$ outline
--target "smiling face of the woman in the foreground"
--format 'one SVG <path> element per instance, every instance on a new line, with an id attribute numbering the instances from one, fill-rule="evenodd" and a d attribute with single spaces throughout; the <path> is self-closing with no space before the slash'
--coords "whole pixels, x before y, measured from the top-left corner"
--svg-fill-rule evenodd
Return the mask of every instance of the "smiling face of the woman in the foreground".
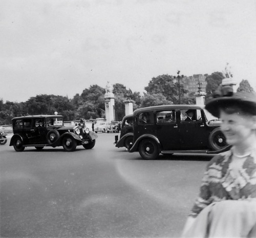
<path id="1" fill-rule="evenodd" d="M 250 145 L 254 143 L 252 136 L 255 135 L 255 122 L 253 116 L 243 115 L 241 113 L 227 114 L 224 111 L 220 113 L 221 129 L 224 133 L 227 143 L 230 145 Z"/>

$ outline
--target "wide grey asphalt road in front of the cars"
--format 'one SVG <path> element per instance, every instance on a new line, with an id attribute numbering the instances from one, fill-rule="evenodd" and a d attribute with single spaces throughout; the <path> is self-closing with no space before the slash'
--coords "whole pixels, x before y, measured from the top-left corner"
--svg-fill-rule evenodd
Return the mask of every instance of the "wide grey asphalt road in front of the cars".
<path id="1" fill-rule="evenodd" d="M 1 237 L 178 237 L 210 157 L 0 146 Z"/>

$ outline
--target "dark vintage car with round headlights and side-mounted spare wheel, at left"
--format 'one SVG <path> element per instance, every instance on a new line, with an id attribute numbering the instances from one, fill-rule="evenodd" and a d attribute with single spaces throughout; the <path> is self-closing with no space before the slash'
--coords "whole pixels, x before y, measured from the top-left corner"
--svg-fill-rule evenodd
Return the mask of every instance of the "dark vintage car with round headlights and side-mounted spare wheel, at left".
<path id="1" fill-rule="evenodd" d="M 45 146 L 63 146 L 67 152 L 75 150 L 77 145 L 91 149 L 97 138 L 82 123 L 77 126 L 64 126 L 63 117 L 60 115 L 14 117 L 12 127 L 14 135 L 10 146 L 17 152 L 22 152 L 28 146 L 34 146 L 37 150 Z"/>

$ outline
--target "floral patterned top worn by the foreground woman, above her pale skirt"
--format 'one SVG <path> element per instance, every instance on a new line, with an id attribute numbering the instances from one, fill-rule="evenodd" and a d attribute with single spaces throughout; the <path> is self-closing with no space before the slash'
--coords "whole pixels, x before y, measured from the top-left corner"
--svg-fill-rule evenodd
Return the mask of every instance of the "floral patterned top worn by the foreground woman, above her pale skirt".
<path id="1" fill-rule="evenodd" d="M 232 149 L 215 156 L 207 165 L 200 187 L 199 197 L 189 216 L 197 215 L 209 204 L 224 200 L 256 199 L 256 149 L 239 169 L 239 176 L 234 176 L 230 163 Z"/>

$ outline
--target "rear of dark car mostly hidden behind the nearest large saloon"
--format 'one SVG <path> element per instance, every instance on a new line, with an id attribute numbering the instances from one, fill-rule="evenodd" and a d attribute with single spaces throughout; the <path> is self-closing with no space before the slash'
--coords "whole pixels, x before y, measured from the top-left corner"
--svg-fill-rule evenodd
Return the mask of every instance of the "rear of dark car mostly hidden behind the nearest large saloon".
<path id="1" fill-rule="evenodd" d="M 133 115 L 124 116 L 121 122 L 120 139 L 115 136 L 116 147 L 126 147 L 129 149 L 133 143 Z"/>

